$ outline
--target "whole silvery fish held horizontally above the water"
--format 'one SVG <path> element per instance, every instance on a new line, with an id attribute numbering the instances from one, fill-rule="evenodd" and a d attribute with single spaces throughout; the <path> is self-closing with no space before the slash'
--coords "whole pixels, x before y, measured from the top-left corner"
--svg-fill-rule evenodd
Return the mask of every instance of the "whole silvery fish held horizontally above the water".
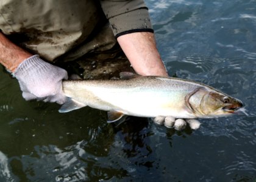
<path id="1" fill-rule="evenodd" d="M 127 115 L 215 118 L 243 107 L 239 99 L 206 84 L 168 76 L 121 72 L 120 79 L 66 80 L 62 86 L 68 99 L 60 113 L 89 106 L 107 111 L 110 123 Z"/>

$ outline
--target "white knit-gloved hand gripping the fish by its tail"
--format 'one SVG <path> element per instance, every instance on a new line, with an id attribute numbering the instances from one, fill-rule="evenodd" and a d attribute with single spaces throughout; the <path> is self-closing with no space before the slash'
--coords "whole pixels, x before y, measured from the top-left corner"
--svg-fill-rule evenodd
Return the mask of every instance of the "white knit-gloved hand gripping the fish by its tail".
<path id="1" fill-rule="evenodd" d="M 18 79 L 23 98 L 63 104 L 62 79 L 68 79 L 66 70 L 43 61 L 38 55 L 25 59 L 13 75 Z"/>

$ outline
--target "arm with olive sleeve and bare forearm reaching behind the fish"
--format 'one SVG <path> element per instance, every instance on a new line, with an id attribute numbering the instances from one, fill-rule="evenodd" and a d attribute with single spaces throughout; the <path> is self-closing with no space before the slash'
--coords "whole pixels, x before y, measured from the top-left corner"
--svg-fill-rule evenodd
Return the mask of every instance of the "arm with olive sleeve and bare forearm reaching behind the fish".
<path id="1" fill-rule="evenodd" d="M 140 75 L 168 76 L 143 0 L 105 0 L 101 5 L 133 69 Z"/>

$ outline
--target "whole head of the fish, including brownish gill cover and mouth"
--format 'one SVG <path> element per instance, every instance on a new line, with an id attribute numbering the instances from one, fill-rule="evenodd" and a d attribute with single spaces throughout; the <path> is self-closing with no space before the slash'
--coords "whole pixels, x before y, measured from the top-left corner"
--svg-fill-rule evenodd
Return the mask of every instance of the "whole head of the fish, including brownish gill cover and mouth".
<path id="1" fill-rule="evenodd" d="M 199 118 L 227 116 L 243 107 L 243 103 L 232 96 L 213 89 L 198 89 L 188 103 Z"/>

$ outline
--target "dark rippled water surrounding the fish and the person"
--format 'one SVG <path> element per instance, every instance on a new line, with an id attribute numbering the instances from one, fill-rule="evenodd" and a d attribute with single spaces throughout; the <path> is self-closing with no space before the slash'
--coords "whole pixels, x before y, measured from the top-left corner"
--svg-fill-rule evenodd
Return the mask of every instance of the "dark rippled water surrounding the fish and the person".
<path id="1" fill-rule="evenodd" d="M 148 0 L 169 75 L 221 89 L 248 116 L 176 132 L 145 118 L 119 127 L 85 107 L 26 102 L 0 73 L 0 181 L 256 181 L 256 1 Z"/>

